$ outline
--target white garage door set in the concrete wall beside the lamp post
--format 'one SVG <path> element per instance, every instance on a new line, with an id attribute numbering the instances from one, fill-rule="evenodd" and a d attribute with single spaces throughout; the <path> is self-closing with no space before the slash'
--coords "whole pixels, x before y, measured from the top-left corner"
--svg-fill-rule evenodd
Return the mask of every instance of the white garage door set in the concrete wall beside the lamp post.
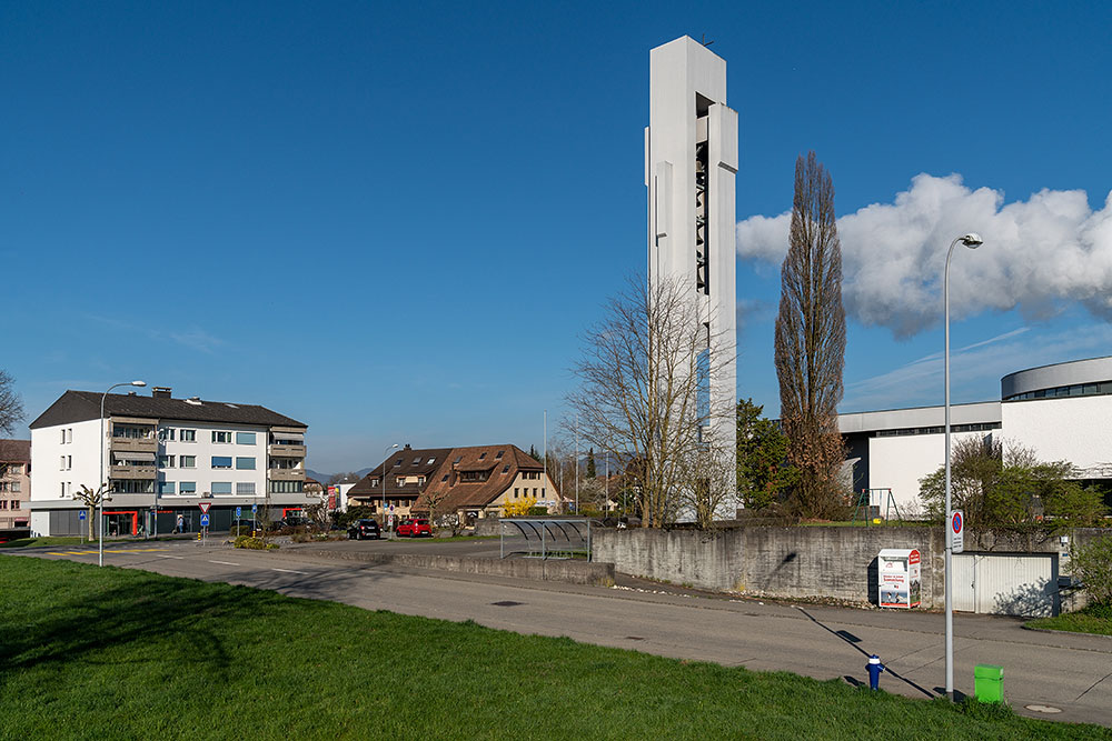
<path id="1" fill-rule="evenodd" d="M 954 609 L 1007 615 L 1058 614 L 1058 555 L 954 554 Z"/>

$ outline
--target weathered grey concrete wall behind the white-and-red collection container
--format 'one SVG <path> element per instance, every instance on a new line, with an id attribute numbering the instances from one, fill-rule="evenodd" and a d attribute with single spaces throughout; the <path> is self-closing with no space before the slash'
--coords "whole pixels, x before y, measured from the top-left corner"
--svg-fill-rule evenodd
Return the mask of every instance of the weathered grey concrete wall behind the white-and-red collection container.
<path id="1" fill-rule="evenodd" d="M 1108 530 L 1078 529 L 1086 542 Z M 716 591 L 795 598 L 835 598 L 876 603 L 876 554 L 883 548 L 916 548 L 923 557 L 923 607 L 944 603 L 943 528 L 737 528 L 696 530 L 598 529 L 592 558 L 616 571 Z M 1059 535 L 966 533 L 965 550 L 1061 553 Z M 1064 559 L 1063 559 L 1064 561 Z M 1063 565 L 1063 573 L 1069 570 Z"/>

